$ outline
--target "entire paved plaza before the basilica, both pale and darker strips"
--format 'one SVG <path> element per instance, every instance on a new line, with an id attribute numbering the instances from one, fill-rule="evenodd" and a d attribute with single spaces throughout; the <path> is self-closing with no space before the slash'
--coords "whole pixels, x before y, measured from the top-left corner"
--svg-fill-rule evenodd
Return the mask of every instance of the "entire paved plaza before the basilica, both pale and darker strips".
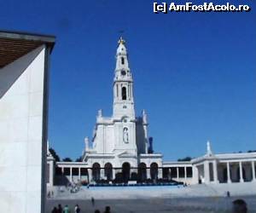
<path id="1" fill-rule="evenodd" d="M 248 213 L 256 213 L 255 184 L 232 183 L 197 185 L 190 187 L 83 187 L 78 193 L 54 192 L 47 200 L 47 212 L 54 206 L 68 204 L 73 212 L 79 204 L 83 213 L 103 212 L 109 205 L 112 213 L 118 212 L 231 212 L 232 201 L 244 199 Z M 56 189 L 56 188 L 55 188 Z M 230 198 L 226 196 L 230 192 Z M 95 206 L 91 204 L 95 199 Z"/>

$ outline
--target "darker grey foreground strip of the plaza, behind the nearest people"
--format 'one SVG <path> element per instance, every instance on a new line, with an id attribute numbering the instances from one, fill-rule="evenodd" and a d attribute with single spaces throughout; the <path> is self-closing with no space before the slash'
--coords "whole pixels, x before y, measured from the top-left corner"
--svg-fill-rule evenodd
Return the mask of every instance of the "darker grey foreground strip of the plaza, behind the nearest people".
<path id="1" fill-rule="evenodd" d="M 111 207 L 112 213 L 139 213 L 139 212 L 161 212 L 161 213 L 229 213 L 232 208 L 232 201 L 244 199 L 247 202 L 248 212 L 256 212 L 256 196 L 244 197 L 212 197 L 212 198 L 172 198 L 172 199 L 104 199 L 95 201 L 93 206 L 90 200 L 67 200 L 67 199 L 48 199 L 47 213 L 57 204 L 68 204 L 73 212 L 75 204 L 79 204 L 82 213 L 93 213 L 96 209 L 104 212 L 106 205 Z"/>

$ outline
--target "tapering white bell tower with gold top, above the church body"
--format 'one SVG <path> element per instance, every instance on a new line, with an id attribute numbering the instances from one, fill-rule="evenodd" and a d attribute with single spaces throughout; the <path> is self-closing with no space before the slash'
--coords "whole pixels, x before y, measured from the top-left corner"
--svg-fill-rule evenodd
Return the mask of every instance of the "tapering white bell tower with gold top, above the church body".
<path id="1" fill-rule="evenodd" d="M 113 118 L 135 118 L 132 84 L 125 40 L 120 37 L 113 79 Z"/>

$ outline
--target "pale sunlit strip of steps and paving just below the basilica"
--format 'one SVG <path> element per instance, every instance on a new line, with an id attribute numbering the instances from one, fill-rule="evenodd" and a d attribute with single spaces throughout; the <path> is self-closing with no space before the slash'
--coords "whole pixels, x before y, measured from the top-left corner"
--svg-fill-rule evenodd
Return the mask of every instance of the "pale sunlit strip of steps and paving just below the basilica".
<path id="1" fill-rule="evenodd" d="M 61 189 L 61 190 L 60 190 Z M 256 195 L 256 182 L 199 184 L 183 186 L 152 187 L 81 187 L 78 193 L 70 193 L 67 187 L 52 187 L 53 199 L 172 199 L 198 197 L 225 197 Z"/>

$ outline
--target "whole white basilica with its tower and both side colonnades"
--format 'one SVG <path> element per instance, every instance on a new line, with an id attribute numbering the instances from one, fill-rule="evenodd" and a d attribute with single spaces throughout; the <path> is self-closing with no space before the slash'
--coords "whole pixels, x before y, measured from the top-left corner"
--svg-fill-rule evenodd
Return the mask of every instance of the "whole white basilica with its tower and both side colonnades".
<path id="1" fill-rule="evenodd" d="M 133 78 L 125 40 L 119 39 L 113 78 L 113 115 L 98 111 L 92 140 L 85 137 L 82 162 L 55 162 L 48 153 L 48 186 L 68 182 L 113 183 L 170 182 L 187 184 L 256 181 L 256 153 L 207 152 L 191 161 L 163 162 L 150 151 L 148 119 L 143 110 L 136 117 Z"/>

